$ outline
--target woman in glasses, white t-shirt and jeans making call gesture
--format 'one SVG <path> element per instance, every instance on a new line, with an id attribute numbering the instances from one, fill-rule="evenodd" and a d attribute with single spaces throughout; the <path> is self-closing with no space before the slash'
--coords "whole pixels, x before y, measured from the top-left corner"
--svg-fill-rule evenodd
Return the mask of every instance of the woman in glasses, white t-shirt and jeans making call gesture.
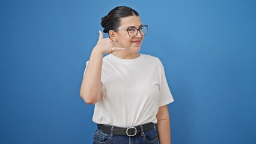
<path id="1" fill-rule="evenodd" d="M 93 121 L 98 128 L 93 142 L 171 143 L 166 104 L 174 100 L 163 65 L 139 53 L 148 26 L 124 6 L 102 17 L 101 24 L 109 38 L 99 31 L 80 91 L 85 103 L 95 104 Z"/>

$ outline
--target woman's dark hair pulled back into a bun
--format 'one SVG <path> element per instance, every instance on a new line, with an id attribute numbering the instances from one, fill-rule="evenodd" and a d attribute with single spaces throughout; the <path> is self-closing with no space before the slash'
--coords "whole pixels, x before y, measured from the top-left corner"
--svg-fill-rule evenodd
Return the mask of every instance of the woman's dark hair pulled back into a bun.
<path id="1" fill-rule="evenodd" d="M 139 14 L 130 7 L 115 7 L 109 11 L 108 15 L 102 17 L 101 25 L 104 28 L 103 32 L 108 33 L 110 30 L 117 30 L 120 26 L 120 19 L 127 16 L 139 16 Z"/>

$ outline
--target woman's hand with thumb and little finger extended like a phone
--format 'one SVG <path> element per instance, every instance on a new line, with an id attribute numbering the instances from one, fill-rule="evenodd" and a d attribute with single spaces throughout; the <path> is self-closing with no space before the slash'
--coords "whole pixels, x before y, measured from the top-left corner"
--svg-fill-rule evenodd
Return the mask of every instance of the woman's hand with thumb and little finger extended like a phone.
<path id="1" fill-rule="evenodd" d="M 99 31 L 99 40 L 93 50 L 100 52 L 103 55 L 114 51 L 123 51 L 125 48 L 115 47 L 114 41 L 110 38 L 103 38 L 102 31 Z"/>

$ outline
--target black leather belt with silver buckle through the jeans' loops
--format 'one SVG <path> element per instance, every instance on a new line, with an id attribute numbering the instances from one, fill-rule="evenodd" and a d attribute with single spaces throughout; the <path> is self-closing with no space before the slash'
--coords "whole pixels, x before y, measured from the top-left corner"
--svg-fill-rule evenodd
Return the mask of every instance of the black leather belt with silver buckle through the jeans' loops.
<path id="1" fill-rule="evenodd" d="M 106 134 L 111 134 L 112 125 L 103 125 L 97 124 L 98 128 L 102 130 Z M 150 122 L 148 124 L 142 125 L 143 131 L 149 131 L 154 128 L 154 123 Z M 127 135 L 127 136 L 135 136 L 136 134 L 141 133 L 141 127 L 138 125 L 136 127 L 129 127 L 129 128 L 121 128 L 121 127 L 114 127 L 114 135 Z"/>

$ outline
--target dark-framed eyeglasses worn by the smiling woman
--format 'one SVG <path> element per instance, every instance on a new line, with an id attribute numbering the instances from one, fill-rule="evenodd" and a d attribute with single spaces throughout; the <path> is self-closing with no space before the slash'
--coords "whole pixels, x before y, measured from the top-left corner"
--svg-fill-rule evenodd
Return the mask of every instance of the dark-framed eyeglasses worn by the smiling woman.
<path id="1" fill-rule="evenodd" d="M 136 37 L 136 35 L 139 33 L 141 33 L 142 36 L 145 36 L 148 33 L 148 25 L 142 25 L 140 26 L 138 29 L 136 29 L 134 26 L 126 28 L 126 29 L 118 29 L 115 31 L 121 31 L 121 30 L 126 30 L 128 32 L 128 35 L 131 38 Z"/>

